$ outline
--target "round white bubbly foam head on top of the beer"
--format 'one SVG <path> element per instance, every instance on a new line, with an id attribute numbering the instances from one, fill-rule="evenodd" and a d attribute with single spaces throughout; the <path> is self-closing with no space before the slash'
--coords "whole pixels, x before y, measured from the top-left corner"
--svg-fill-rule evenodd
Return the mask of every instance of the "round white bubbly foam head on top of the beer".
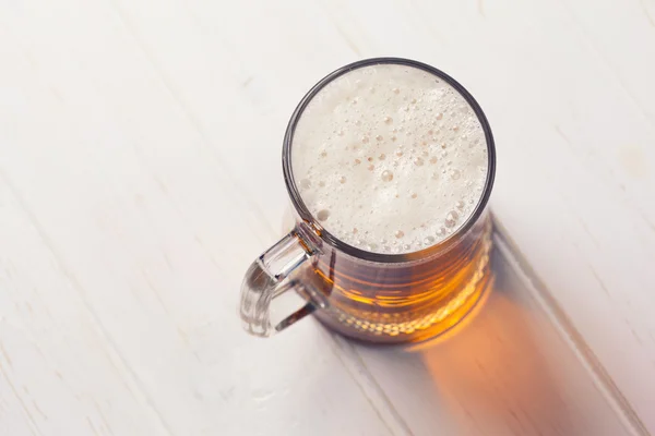
<path id="1" fill-rule="evenodd" d="M 307 105 L 291 168 L 312 216 L 343 242 L 374 253 L 437 244 L 474 213 L 487 142 L 466 100 L 421 69 L 352 70 Z"/>

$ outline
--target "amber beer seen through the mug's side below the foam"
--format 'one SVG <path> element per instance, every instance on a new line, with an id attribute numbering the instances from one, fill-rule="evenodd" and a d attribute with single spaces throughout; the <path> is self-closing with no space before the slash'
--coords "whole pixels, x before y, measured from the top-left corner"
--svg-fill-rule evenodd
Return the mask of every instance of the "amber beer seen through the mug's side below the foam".
<path id="1" fill-rule="evenodd" d="M 329 310 L 317 312 L 336 331 L 376 342 L 432 338 L 457 324 L 489 287 L 491 219 L 481 217 L 443 253 L 425 262 L 361 263 L 332 251 L 307 280 Z"/>

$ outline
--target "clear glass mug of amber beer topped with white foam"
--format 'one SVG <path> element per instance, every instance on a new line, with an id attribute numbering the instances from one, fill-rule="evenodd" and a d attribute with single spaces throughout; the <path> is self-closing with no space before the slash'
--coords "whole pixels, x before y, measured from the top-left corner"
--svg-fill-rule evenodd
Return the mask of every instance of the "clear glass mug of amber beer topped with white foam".
<path id="1" fill-rule="evenodd" d="M 286 130 L 295 226 L 246 272 L 246 330 L 267 337 L 313 314 L 365 341 L 442 334 L 492 279 L 495 167 L 483 110 L 445 73 L 377 58 L 329 74 Z"/>

